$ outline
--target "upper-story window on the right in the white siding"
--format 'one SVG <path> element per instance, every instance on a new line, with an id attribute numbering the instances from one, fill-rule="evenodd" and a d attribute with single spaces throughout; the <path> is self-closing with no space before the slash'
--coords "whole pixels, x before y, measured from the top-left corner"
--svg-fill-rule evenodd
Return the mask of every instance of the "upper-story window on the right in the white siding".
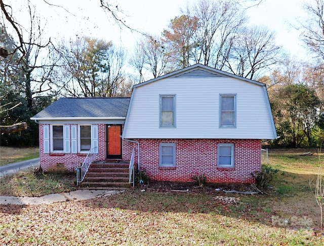
<path id="1" fill-rule="evenodd" d="M 220 127 L 236 127 L 236 95 L 220 95 Z"/>

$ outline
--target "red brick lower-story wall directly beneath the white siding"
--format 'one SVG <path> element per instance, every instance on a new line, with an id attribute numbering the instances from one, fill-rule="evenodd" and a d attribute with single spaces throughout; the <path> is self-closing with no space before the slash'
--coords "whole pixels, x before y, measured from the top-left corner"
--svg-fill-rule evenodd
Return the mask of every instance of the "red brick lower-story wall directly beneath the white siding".
<path id="1" fill-rule="evenodd" d="M 135 139 L 140 142 L 140 168 L 152 180 L 192 182 L 204 173 L 207 182 L 253 183 L 251 172 L 261 170 L 259 139 Z M 176 167 L 159 168 L 159 143 L 176 144 Z M 217 167 L 217 145 L 234 144 L 234 168 Z M 136 159 L 137 160 L 137 159 Z"/>

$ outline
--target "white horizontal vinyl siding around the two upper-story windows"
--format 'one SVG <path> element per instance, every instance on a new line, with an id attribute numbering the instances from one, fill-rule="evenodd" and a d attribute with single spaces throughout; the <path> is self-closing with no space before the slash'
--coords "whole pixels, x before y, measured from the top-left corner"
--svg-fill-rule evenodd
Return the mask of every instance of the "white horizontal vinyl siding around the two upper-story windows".
<path id="1" fill-rule="evenodd" d="M 159 128 L 160 94 L 176 95 L 176 128 Z M 236 95 L 236 128 L 219 127 L 220 94 Z M 263 86 L 236 78 L 165 78 L 134 89 L 123 136 L 272 139 L 267 100 Z"/>

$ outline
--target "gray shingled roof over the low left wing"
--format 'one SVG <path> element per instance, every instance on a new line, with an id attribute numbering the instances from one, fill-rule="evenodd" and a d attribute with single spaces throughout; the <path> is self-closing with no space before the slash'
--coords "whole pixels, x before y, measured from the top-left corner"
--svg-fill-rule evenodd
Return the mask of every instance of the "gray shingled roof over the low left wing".
<path id="1" fill-rule="evenodd" d="M 31 120 L 125 119 L 129 97 L 60 98 Z"/>

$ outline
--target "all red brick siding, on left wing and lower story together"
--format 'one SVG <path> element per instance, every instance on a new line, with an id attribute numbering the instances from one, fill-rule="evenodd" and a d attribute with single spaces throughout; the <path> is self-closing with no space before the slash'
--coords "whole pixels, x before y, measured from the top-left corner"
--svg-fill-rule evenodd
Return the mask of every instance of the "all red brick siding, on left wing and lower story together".
<path id="1" fill-rule="evenodd" d="M 73 124 L 70 124 L 70 126 Z M 86 158 L 85 154 L 44 153 L 43 126 L 39 125 L 39 157 L 45 172 L 75 172 Z M 71 131 L 70 131 L 71 134 Z M 71 136 L 70 136 L 71 138 Z M 98 124 L 98 154 L 96 160 L 106 159 L 106 125 Z M 253 183 L 251 173 L 261 170 L 260 139 L 134 139 L 140 143 L 140 169 L 146 169 L 152 180 L 193 181 L 194 175 L 204 173 L 207 182 Z M 175 168 L 159 167 L 159 144 L 176 144 Z M 234 168 L 217 167 L 217 146 L 234 144 Z M 123 160 L 130 160 L 137 144 L 123 141 Z M 70 146 L 71 150 L 71 146 Z"/>

